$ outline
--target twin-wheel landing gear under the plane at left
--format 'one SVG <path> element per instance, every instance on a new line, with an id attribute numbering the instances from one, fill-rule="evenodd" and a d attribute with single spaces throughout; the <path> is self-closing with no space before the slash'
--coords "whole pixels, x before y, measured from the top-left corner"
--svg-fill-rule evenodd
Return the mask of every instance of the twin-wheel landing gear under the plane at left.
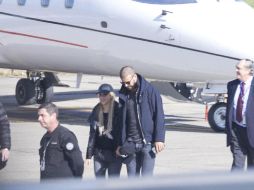
<path id="1" fill-rule="evenodd" d="M 16 100 L 19 105 L 42 104 L 53 99 L 52 81 L 41 72 L 28 72 L 27 78 L 16 85 Z"/>

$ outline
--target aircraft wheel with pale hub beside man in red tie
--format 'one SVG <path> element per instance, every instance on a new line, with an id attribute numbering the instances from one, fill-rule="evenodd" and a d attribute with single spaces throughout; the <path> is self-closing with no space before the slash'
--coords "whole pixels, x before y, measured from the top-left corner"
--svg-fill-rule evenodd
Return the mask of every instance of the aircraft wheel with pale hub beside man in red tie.
<path id="1" fill-rule="evenodd" d="M 208 112 L 208 122 L 216 132 L 225 131 L 226 123 L 226 103 L 219 102 L 214 104 Z"/>

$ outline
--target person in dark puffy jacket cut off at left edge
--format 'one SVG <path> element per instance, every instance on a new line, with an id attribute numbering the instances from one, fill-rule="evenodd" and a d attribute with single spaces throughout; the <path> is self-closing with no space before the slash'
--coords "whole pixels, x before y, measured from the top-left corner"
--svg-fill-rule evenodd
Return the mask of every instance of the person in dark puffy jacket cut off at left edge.
<path id="1" fill-rule="evenodd" d="M 10 123 L 0 102 L 0 169 L 4 168 L 9 159 L 11 148 Z"/>

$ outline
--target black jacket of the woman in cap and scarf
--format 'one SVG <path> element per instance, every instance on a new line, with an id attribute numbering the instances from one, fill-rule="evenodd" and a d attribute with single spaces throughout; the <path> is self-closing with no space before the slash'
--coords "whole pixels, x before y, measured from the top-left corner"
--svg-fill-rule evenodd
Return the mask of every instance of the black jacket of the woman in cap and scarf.
<path id="1" fill-rule="evenodd" d="M 114 102 L 114 115 L 113 115 L 113 123 L 112 123 L 112 131 L 111 135 L 113 136 L 112 140 L 107 140 L 107 143 L 111 144 L 110 150 L 115 152 L 118 142 L 117 139 L 119 139 L 117 136 L 119 134 L 119 108 L 118 103 Z M 103 149 L 103 147 L 97 147 L 96 143 L 99 140 L 103 140 L 103 138 L 99 138 L 99 132 L 98 132 L 98 126 L 96 125 L 96 122 L 99 121 L 99 103 L 94 107 L 88 121 L 90 123 L 90 133 L 89 133 L 89 139 L 88 139 L 88 145 L 87 145 L 87 152 L 86 152 L 86 158 L 91 159 L 95 153 L 95 148 Z M 105 137 L 106 138 L 106 137 Z M 106 139 L 104 139 L 106 140 Z M 101 143 L 100 143 L 101 144 Z"/>

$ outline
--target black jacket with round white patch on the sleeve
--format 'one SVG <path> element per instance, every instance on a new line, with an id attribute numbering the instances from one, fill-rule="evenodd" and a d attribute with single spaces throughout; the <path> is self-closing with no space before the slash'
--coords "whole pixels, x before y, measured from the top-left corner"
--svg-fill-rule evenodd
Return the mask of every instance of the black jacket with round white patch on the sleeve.
<path id="1" fill-rule="evenodd" d="M 84 161 L 74 133 L 59 125 L 42 137 L 40 145 L 40 163 L 45 155 L 41 179 L 82 177 Z"/>

